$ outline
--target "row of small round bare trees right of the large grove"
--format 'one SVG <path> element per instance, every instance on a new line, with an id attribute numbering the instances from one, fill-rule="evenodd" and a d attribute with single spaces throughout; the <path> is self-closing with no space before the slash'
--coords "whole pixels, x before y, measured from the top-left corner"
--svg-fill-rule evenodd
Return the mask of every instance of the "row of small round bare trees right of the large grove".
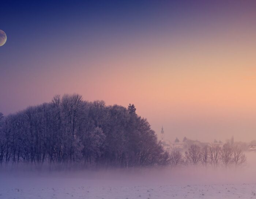
<path id="1" fill-rule="evenodd" d="M 211 146 L 192 144 L 183 155 L 179 149 L 172 149 L 166 157 L 166 163 L 172 167 L 178 165 L 202 165 L 204 167 L 240 167 L 246 162 L 246 156 L 238 144 L 225 143 L 223 146 L 213 143 Z"/>

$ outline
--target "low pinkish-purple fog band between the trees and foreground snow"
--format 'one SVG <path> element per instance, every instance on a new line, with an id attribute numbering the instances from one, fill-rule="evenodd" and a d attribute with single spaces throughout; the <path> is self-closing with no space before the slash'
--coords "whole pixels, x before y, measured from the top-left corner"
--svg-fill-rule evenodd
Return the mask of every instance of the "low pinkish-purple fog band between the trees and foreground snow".
<path id="1" fill-rule="evenodd" d="M 83 171 L 1 171 L 1 188 L 256 183 L 256 153 L 243 168 L 169 167 Z"/>

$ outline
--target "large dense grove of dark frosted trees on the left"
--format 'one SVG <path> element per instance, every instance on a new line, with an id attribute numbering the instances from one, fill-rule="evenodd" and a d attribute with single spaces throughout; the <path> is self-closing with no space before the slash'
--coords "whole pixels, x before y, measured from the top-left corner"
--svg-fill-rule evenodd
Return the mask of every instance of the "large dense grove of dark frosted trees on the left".
<path id="1" fill-rule="evenodd" d="M 146 119 L 129 104 L 106 106 L 81 95 L 4 116 L 0 113 L 0 164 L 152 166 L 166 153 Z"/>

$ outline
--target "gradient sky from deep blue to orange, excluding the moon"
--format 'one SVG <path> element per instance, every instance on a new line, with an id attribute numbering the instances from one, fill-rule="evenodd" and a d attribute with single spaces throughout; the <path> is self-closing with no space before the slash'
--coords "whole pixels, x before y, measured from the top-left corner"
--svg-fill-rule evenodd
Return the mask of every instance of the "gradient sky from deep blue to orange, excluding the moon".
<path id="1" fill-rule="evenodd" d="M 4 0 L 0 19 L 5 115 L 79 93 L 171 141 L 256 139 L 256 1 Z"/>

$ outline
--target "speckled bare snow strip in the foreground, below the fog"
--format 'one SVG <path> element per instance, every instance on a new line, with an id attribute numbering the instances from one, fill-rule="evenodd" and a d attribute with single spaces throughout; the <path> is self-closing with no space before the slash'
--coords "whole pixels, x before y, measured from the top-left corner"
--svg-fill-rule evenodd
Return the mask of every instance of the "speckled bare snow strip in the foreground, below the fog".
<path id="1" fill-rule="evenodd" d="M 0 188 L 3 199 L 255 198 L 256 184 Z"/>

